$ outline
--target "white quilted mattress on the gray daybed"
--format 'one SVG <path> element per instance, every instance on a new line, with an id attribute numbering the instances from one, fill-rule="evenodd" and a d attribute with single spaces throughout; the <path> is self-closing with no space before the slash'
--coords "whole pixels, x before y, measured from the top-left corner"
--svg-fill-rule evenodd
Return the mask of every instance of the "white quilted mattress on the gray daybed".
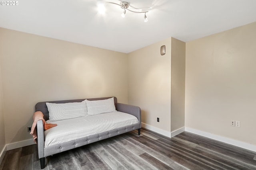
<path id="1" fill-rule="evenodd" d="M 44 131 L 44 147 L 133 125 L 138 123 L 138 119 L 134 115 L 114 111 L 74 119 L 52 121 L 51 123 L 56 123 L 57 126 Z"/>

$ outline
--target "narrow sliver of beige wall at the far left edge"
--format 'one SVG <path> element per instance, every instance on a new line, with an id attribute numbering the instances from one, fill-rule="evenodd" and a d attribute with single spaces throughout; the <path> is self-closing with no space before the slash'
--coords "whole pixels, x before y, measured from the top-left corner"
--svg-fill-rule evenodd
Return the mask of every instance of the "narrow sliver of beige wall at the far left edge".
<path id="1" fill-rule="evenodd" d="M 2 76 L 1 76 L 1 70 L 0 70 L 0 154 L 4 149 L 4 146 L 5 146 L 5 132 L 4 132 L 3 91 L 2 91 Z M 0 159 L 0 163 L 1 163 L 1 159 Z"/>

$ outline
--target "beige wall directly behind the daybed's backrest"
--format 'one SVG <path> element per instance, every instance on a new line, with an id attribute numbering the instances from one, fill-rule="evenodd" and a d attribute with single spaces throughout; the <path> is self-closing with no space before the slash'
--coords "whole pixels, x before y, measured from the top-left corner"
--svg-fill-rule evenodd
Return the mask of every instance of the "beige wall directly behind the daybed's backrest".
<path id="1" fill-rule="evenodd" d="M 3 28 L 0 37 L 6 143 L 32 138 L 27 126 L 40 101 L 116 96 L 128 103 L 127 54 Z"/>

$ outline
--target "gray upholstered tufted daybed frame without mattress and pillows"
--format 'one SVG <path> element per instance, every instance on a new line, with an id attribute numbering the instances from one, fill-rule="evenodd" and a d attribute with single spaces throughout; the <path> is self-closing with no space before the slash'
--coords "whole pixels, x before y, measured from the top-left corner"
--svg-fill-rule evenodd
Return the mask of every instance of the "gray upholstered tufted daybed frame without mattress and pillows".
<path id="1" fill-rule="evenodd" d="M 87 100 L 95 101 L 95 100 L 106 100 L 106 99 L 110 99 L 110 98 L 111 97 L 92 98 L 92 99 L 87 99 Z M 64 103 L 70 103 L 70 102 L 82 102 L 84 100 L 85 99 L 39 102 L 36 104 L 36 111 L 42 111 L 42 113 L 44 114 L 44 119 L 47 121 L 49 119 L 49 111 L 48 111 L 48 107 L 46 106 L 46 103 L 64 104 Z M 114 97 L 114 105 L 115 105 L 117 112 L 128 113 L 130 115 L 130 117 L 135 116 L 138 119 L 138 122 L 135 124 L 132 124 L 132 125 L 124 125 L 122 127 L 115 128 L 115 129 L 112 129 L 109 131 L 104 131 L 102 133 L 82 137 L 80 139 L 74 139 L 71 141 L 66 141 L 66 142 L 54 144 L 51 146 L 45 146 L 45 139 L 46 139 L 46 136 L 48 135 L 46 133 L 46 131 L 48 131 L 48 130 L 44 131 L 42 120 L 37 121 L 38 157 L 40 158 L 41 169 L 43 169 L 45 167 L 45 157 L 46 156 L 50 156 L 52 154 L 60 153 L 60 152 L 74 149 L 77 147 L 81 147 L 83 145 L 87 145 L 87 144 L 90 144 L 90 143 L 93 143 L 96 141 L 100 141 L 100 140 L 103 140 L 103 139 L 106 139 L 109 137 L 120 135 L 122 133 L 126 133 L 129 131 L 135 130 L 135 129 L 138 129 L 138 135 L 140 135 L 140 128 L 141 128 L 140 107 L 117 103 L 116 97 Z M 128 115 L 128 114 L 126 114 L 126 115 Z M 134 115 L 134 116 L 131 116 L 131 115 Z M 76 119 L 79 119 L 79 118 L 76 118 Z M 110 117 L 110 119 L 111 119 L 111 117 Z M 58 121 L 54 122 L 54 123 L 58 124 Z M 58 125 L 56 127 L 58 127 Z M 54 128 L 56 128 L 56 127 L 51 128 L 51 131 L 54 131 Z M 46 134 L 46 136 L 45 136 L 45 134 Z"/>

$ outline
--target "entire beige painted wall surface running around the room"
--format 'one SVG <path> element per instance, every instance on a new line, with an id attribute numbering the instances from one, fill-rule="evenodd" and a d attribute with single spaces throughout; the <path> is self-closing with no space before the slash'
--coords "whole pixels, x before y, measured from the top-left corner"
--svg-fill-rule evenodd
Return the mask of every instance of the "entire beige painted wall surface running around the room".
<path id="1" fill-rule="evenodd" d="M 185 119 L 186 127 L 256 145 L 255 30 L 251 23 L 186 45 L 168 38 L 124 54 L 0 28 L 0 151 L 31 139 L 37 102 L 102 96 L 140 106 L 142 123 L 165 131 Z"/>

